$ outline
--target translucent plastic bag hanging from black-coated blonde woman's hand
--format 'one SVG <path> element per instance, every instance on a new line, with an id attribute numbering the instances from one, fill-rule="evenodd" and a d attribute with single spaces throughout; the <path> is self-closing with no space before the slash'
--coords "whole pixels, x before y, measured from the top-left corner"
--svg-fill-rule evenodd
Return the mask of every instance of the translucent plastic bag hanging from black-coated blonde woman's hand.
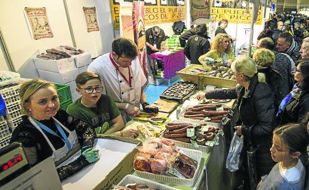
<path id="1" fill-rule="evenodd" d="M 240 153 L 244 147 L 244 136 L 239 137 L 236 135 L 236 131 L 234 133 L 234 137 L 232 139 L 230 150 L 226 158 L 225 167 L 231 172 L 237 171 L 240 159 Z"/>

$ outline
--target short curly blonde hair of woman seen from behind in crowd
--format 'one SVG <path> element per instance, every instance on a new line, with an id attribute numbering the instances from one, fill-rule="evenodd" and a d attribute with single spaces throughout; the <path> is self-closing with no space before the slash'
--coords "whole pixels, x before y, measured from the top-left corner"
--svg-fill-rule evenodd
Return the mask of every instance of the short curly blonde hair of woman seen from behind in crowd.
<path id="1" fill-rule="evenodd" d="M 253 60 L 261 67 L 270 67 L 275 62 L 275 54 L 266 48 L 257 49 L 253 55 Z"/>

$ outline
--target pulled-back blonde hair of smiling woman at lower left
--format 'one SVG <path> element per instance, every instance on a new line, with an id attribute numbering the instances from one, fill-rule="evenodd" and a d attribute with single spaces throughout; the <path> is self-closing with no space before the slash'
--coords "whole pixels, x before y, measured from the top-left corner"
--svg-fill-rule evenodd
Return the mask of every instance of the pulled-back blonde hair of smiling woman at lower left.
<path id="1" fill-rule="evenodd" d="M 30 96 L 34 94 L 37 90 L 41 88 L 53 87 L 56 90 L 56 86 L 48 81 L 41 79 L 32 79 L 30 81 L 24 82 L 19 89 L 19 96 L 21 98 L 21 113 L 30 115 L 29 110 L 26 108 L 25 103 L 30 103 Z"/>

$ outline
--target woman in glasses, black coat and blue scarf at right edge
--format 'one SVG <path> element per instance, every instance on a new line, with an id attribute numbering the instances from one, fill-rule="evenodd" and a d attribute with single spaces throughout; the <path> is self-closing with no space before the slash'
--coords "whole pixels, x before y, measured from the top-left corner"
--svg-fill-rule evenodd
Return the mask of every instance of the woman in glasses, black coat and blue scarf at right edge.
<path id="1" fill-rule="evenodd" d="M 277 113 L 278 123 L 299 123 L 309 112 L 309 59 L 299 60 L 294 79 L 297 83 L 282 100 Z"/>

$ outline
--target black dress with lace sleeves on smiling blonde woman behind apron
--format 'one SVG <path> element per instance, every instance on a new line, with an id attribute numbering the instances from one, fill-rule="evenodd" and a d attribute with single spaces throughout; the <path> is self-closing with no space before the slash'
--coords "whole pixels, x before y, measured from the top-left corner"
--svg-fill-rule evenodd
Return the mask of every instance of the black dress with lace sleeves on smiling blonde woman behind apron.
<path id="1" fill-rule="evenodd" d="M 76 131 L 78 141 L 82 147 L 82 152 L 92 147 L 93 141 L 96 137 L 95 130 L 92 126 L 81 120 L 74 119 L 63 110 L 59 110 L 54 118 L 56 118 L 70 131 Z M 36 165 L 37 163 L 50 157 L 52 155 L 52 150 L 43 134 L 29 121 L 28 117 L 22 116 L 22 119 L 22 122 L 13 131 L 10 143 L 22 143 L 30 164 Z M 52 131 L 56 132 L 60 136 L 60 133 L 57 130 L 52 118 L 41 120 L 40 122 L 48 126 Z M 60 149 L 65 145 L 64 142 L 58 137 L 44 130 L 43 132 L 49 138 L 55 150 Z M 64 132 L 68 136 L 67 131 L 64 130 Z M 87 164 L 89 163 L 85 157 L 80 156 L 68 165 L 58 168 L 57 172 L 60 180 L 75 174 Z"/>

